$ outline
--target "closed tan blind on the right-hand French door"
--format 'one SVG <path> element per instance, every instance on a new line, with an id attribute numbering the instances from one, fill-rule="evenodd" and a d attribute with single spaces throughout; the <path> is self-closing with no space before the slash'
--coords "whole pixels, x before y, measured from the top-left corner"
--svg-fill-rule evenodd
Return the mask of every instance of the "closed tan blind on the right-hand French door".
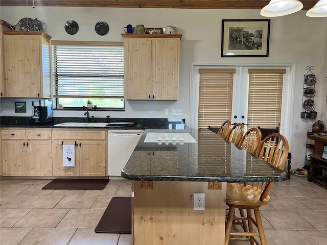
<path id="1" fill-rule="evenodd" d="M 247 128 L 281 128 L 283 77 L 286 69 L 248 69 Z"/>

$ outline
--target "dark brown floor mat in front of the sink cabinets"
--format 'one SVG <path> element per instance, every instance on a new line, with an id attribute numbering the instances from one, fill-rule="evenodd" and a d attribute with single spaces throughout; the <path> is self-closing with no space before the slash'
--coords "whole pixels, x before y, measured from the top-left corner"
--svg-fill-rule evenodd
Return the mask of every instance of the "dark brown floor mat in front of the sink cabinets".
<path id="1" fill-rule="evenodd" d="M 109 179 L 55 179 L 42 189 L 102 190 L 108 182 Z"/>

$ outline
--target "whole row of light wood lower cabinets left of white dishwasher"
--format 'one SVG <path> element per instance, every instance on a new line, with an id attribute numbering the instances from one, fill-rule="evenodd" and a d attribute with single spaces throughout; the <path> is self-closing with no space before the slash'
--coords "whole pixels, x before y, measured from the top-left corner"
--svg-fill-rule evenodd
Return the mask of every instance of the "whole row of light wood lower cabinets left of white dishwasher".
<path id="1" fill-rule="evenodd" d="M 75 167 L 63 166 L 62 144 L 76 144 Z M 107 176 L 106 130 L 1 130 L 3 176 Z"/>

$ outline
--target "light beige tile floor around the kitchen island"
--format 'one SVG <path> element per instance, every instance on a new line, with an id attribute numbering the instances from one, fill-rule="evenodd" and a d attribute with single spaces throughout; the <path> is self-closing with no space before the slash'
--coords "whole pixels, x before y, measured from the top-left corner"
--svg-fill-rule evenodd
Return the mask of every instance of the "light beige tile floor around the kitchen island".
<path id="1" fill-rule="evenodd" d="M 110 180 L 103 190 L 42 190 L 50 181 L 0 180 L 1 245 L 131 244 L 130 234 L 94 231 L 112 197 L 131 195 L 130 181 Z M 270 198 L 261 207 L 268 245 L 326 244 L 326 189 L 291 176 L 274 184 Z"/>

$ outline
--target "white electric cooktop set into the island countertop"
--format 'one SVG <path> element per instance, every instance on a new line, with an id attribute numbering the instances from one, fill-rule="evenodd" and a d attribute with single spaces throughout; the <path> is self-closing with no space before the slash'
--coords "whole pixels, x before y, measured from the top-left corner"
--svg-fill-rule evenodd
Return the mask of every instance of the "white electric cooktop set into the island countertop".
<path id="1" fill-rule="evenodd" d="M 196 143 L 197 141 L 189 133 L 156 133 L 148 132 L 144 139 L 147 143 Z"/>

